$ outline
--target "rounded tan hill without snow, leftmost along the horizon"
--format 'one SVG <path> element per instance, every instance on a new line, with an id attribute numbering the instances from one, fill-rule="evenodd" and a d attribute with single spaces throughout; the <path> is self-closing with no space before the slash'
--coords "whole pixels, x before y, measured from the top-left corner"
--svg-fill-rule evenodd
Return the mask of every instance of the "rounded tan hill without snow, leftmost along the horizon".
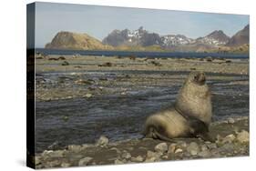
<path id="1" fill-rule="evenodd" d="M 46 44 L 51 49 L 76 49 L 76 50 L 113 50 L 111 45 L 103 45 L 96 38 L 87 34 L 72 32 L 58 32 L 51 43 Z"/>

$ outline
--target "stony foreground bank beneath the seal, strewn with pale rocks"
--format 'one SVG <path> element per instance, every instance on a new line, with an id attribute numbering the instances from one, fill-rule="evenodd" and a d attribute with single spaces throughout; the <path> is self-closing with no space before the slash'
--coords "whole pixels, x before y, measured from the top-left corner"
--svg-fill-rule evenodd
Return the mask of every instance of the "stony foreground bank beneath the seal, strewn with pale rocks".
<path id="1" fill-rule="evenodd" d="M 249 156 L 249 117 L 212 123 L 210 135 L 216 142 L 179 138 L 173 143 L 149 138 L 108 142 L 101 136 L 95 144 L 70 145 L 45 150 L 31 157 L 36 168 L 151 163 L 159 161 Z"/>

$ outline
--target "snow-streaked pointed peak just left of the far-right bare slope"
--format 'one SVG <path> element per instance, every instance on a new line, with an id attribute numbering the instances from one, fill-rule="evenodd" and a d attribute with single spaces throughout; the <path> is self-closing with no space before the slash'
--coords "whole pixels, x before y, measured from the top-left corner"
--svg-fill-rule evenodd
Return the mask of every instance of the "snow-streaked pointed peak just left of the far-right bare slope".
<path id="1" fill-rule="evenodd" d="M 215 30 L 209 35 L 197 38 L 196 43 L 203 45 L 226 45 L 229 39 L 230 37 L 225 35 L 222 30 Z"/>

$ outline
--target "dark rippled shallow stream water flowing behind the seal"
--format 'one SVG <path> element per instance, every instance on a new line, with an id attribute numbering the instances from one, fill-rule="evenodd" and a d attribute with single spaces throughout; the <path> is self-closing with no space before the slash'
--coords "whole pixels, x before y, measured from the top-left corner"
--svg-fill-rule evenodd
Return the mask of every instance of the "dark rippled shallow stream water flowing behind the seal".
<path id="1" fill-rule="evenodd" d="M 127 73 L 137 73 L 138 76 L 159 74 L 147 71 L 122 72 Z M 182 75 L 179 77 L 183 80 L 187 73 L 167 74 Z M 118 71 L 91 72 L 87 75 L 80 73 L 79 76 L 99 79 L 103 75 L 108 75 L 108 79 L 115 79 Z M 58 86 L 57 82 L 61 78 L 65 80 L 65 86 L 70 86 L 76 91 L 77 85 L 71 84 L 71 80 L 76 76 L 72 73 L 42 73 L 36 75 L 36 78 L 44 78 L 49 87 Z M 248 75 L 225 76 L 230 76 L 231 81 L 249 80 Z M 101 135 L 108 136 L 110 141 L 141 137 L 140 132 L 146 117 L 163 107 L 170 106 L 181 83 L 131 90 L 126 96 L 113 94 L 89 99 L 36 101 L 36 152 L 45 150 L 55 142 L 59 143 L 58 146 L 94 143 Z M 210 79 L 208 84 L 212 91 L 213 120 L 230 116 L 249 116 L 249 85 L 230 84 L 230 79 Z M 121 86 L 129 88 L 128 84 Z M 67 117 L 66 120 L 64 116 Z"/>

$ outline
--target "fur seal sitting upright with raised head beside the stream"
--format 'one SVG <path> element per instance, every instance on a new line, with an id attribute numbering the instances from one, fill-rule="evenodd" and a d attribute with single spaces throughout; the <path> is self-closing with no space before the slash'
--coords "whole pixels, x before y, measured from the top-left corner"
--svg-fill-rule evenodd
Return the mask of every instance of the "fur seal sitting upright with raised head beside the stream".
<path id="1" fill-rule="evenodd" d="M 148 116 L 143 134 L 166 141 L 177 137 L 201 137 L 212 141 L 208 134 L 211 110 L 206 75 L 193 71 L 180 88 L 174 106 Z"/>

